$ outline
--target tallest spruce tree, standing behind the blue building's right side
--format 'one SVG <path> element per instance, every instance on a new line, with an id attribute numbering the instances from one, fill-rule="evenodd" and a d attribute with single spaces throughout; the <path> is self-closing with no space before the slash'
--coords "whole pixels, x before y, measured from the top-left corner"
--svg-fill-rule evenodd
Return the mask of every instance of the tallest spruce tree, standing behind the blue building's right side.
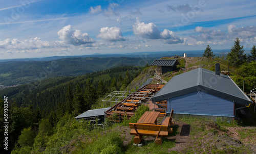
<path id="1" fill-rule="evenodd" d="M 227 54 L 227 59 L 230 60 L 230 64 L 234 67 L 239 67 L 246 62 L 246 55 L 244 54 L 244 46 L 240 45 L 240 40 L 237 37 L 234 41 L 234 45 L 231 47 L 230 52 Z"/>

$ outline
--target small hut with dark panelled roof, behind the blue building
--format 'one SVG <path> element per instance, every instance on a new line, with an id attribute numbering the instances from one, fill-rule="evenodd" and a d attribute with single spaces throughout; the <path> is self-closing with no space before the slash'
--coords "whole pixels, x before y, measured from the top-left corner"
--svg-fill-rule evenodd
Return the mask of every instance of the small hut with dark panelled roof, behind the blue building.
<path id="1" fill-rule="evenodd" d="M 177 69 L 177 65 L 180 65 L 180 62 L 176 59 L 159 59 L 154 60 L 151 66 L 157 66 L 156 74 L 162 75 L 164 73 L 175 71 Z"/>

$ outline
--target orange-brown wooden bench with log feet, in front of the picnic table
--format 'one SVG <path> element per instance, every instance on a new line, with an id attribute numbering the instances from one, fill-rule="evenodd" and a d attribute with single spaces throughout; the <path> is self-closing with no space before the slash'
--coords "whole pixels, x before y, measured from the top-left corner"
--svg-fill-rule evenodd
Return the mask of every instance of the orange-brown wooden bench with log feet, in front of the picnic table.
<path id="1" fill-rule="evenodd" d="M 156 136 L 156 144 L 162 144 L 162 139 L 158 137 L 168 137 L 167 125 L 129 123 L 129 127 L 132 129 L 130 134 L 136 135 L 133 139 L 135 144 L 143 142 L 143 136 Z"/>

